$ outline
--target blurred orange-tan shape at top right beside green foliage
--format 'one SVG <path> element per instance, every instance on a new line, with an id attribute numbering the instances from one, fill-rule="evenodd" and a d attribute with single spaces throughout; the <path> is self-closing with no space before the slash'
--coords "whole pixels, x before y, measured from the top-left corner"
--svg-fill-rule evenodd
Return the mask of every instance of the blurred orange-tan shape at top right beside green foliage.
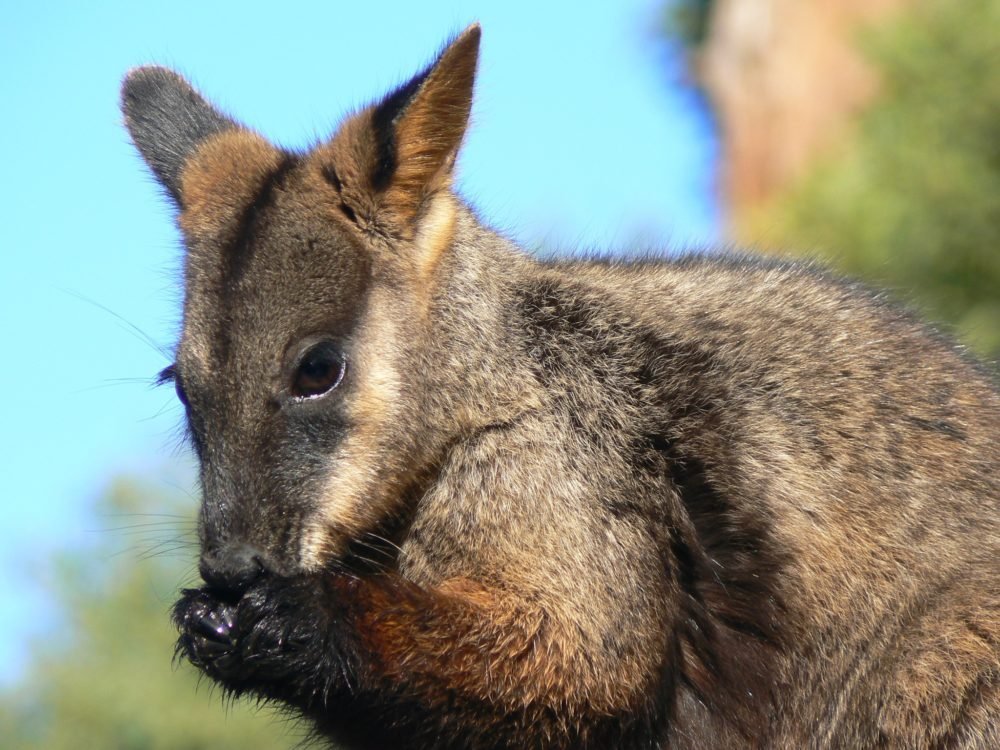
<path id="1" fill-rule="evenodd" d="M 862 29 L 914 0 L 716 0 L 699 77 L 736 213 L 799 177 L 877 89 Z"/>

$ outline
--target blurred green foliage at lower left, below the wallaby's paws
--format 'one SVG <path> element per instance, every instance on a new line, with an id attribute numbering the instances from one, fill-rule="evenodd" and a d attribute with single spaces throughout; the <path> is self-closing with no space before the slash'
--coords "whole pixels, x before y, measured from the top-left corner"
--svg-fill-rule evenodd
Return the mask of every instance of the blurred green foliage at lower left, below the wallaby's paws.
<path id="1" fill-rule="evenodd" d="M 154 508 L 149 497 L 144 488 L 117 483 L 102 525 L 126 528 L 102 534 L 97 549 L 67 555 L 56 566 L 65 633 L 37 644 L 28 675 L 0 694 L 3 747 L 300 745 L 301 728 L 267 709 L 224 700 L 207 681 L 199 684 L 190 665 L 173 662 L 169 610 L 177 589 L 194 577 L 193 509 L 163 498 Z M 172 509 L 169 517 L 152 515 L 164 506 Z"/>

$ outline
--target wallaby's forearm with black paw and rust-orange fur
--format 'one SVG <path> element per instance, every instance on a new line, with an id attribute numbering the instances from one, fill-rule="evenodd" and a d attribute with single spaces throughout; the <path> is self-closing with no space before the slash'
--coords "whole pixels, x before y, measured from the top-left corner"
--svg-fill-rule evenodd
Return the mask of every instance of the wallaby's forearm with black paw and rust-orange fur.
<path id="1" fill-rule="evenodd" d="M 362 722 L 372 747 L 404 747 L 408 736 L 427 746 L 428 733 L 434 746 L 478 747 L 470 716 L 483 746 L 535 736 L 546 747 L 584 747 L 635 702 L 577 661 L 543 609 L 469 581 L 428 589 L 394 574 L 269 579 L 235 605 L 188 591 L 176 613 L 185 629 L 202 621 L 201 636 L 182 641 L 186 655 L 236 694 L 281 700 L 348 733 L 361 717 L 391 713 L 381 733 Z M 459 717 L 461 738 L 449 737 Z"/>

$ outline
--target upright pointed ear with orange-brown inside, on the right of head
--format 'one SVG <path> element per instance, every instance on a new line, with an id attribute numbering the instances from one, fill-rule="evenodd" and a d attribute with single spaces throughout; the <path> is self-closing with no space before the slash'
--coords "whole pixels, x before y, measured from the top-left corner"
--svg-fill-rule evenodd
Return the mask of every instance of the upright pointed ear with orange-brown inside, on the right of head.
<path id="1" fill-rule="evenodd" d="M 469 26 L 428 68 L 346 122 L 321 149 L 349 215 L 399 231 L 449 184 L 472 109 L 480 35 L 479 24 Z"/>

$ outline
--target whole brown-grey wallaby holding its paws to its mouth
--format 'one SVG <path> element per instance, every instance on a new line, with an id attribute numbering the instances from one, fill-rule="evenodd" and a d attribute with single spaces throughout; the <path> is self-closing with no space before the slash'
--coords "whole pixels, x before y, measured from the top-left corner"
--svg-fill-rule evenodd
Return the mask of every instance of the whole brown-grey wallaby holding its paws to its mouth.
<path id="1" fill-rule="evenodd" d="M 529 257 L 471 26 L 304 153 L 132 71 L 200 460 L 178 648 L 357 748 L 1000 747 L 1000 396 L 856 284 Z"/>

